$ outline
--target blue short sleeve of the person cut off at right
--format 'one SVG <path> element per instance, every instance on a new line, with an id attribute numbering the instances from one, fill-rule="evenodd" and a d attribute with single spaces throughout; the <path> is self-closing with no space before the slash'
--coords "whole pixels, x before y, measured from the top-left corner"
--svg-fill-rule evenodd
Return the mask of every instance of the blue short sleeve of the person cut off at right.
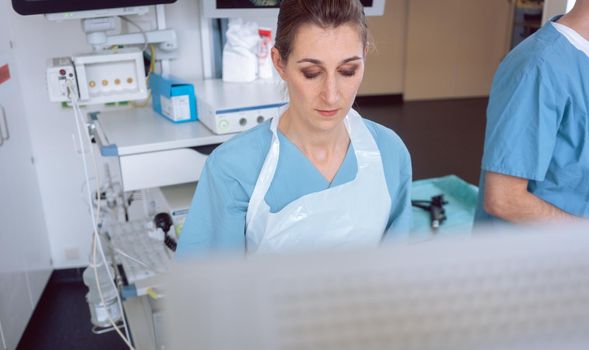
<path id="1" fill-rule="evenodd" d="M 543 76 L 541 65 L 520 78 L 512 70 L 501 67 L 493 84 L 482 168 L 543 181 L 561 121 L 555 86 Z"/>

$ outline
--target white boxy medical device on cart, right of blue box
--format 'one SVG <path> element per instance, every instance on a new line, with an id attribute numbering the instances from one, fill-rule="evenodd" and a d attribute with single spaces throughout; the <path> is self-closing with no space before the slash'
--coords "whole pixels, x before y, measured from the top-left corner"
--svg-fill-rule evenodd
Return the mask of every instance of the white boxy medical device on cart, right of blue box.
<path id="1" fill-rule="evenodd" d="M 287 103 L 286 90 L 276 82 L 210 79 L 195 82 L 194 89 L 198 118 L 216 134 L 250 129 L 277 116 Z"/>

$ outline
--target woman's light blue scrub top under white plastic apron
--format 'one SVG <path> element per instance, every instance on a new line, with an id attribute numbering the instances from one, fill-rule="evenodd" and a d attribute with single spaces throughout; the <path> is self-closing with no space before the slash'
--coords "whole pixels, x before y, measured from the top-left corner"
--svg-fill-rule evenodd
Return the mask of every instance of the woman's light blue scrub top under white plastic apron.
<path id="1" fill-rule="evenodd" d="M 364 122 L 380 150 L 391 196 L 384 239 L 404 240 L 411 227 L 409 152 L 392 130 L 365 119 Z M 278 137 L 278 165 L 265 196 L 272 212 L 280 211 L 306 194 L 344 184 L 356 177 L 358 167 L 351 144 L 329 183 L 292 142 L 280 132 Z M 267 121 L 225 142 L 209 156 L 180 236 L 177 257 L 212 251 L 245 252 L 247 207 L 271 141 L 270 121 Z"/>

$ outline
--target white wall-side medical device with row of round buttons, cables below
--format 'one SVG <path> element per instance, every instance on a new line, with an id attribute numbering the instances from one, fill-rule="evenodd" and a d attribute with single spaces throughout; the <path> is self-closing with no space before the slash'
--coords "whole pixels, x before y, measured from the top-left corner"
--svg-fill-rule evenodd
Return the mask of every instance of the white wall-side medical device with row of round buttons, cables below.
<path id="1" fill-rule="evenodd" d="M 54 58 L 47 68 L 47 87 L 53 102 L 70 101 L 68 89 L 84 105 L 144 100 L 143 53 L 131 48 Z"/>

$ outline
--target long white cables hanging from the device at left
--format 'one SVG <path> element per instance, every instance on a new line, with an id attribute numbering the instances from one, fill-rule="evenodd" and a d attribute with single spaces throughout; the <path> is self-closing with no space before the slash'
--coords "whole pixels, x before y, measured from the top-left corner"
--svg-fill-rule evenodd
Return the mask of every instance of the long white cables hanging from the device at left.
<path id="1" fill-rule="evenodd" d="M 84 175 L 86 177 L 86 181 L 89 183 L 89 179 L 90 176 L 88 174 L 88 164 L 86 162 L 86 156 L 85 156 L 85 149 L 84 149 L 84 138 L 82 137 L 82 131 L 81 131 L 81 123 L 83 123 L 83 113 L 80 110 L 80 106 L 78 104 L 78 95 L 77 95 L 77 90 L 76 88 L 72 85 L 71 81 L 67 82 L 67 91 L 68 91 L 68 99 L 70 100 L 70 103 L 73 106 L 73 110 L 74 110 L 74 119 L 76 122 L 76 130 L 77 130 L 77 134 L 78 134 L 78 141 L 80 143 L 80 147 L 81 147 L 81 151 L 82 151 L 82 163 L 84 166 Z M 98 167 L 96 166 L 96 157 L 94 154 L 94 150 L 92 149 L 92 144 L 91 141 L 88 137 L 87 132 L 85 133 L 87 136 L 87 141 L 89 144 L 89 149 L 90 149 L 90 154 L 92 156 L 92 160 L 94 162 L 94 168 L 95 168 L 95 172 L 96 172 L 96 187 L 97 187 L 97 193 L 99 193 L 99 189 L 100 189 L 100 178 L 98 175 Z M 92 203 L 92 193 L 90 191 L 90 186 L 86 187 L 87 189 L 87 195 L 88 195 L 88 200 L 89 203 Z M 100 198 L 97 198 L 98 201 L 98 205 L 97 205 L 97 211 L 96 214 L 94 213 L 94 208 L 92 205 L 90 205 L 90 213 L 91 213 L 91 219 L 92 219 L 92 225 L 93 225 L 93 235 L 92 235 L 92 268 L 94 270 L 94 278 L 96 281 L 96 285 L 97 285 L 97 289 L 98 289 L 98 294 L 100 297 L 100 301 L 103 305 L 106 305 L 106 302 L 104 300 L 104 295 L 102 294 L 102 290 L 100 288 L 100 280 L 98 278 L 98 270 L 97 270 L 97 261 L 96 261 L 96 253 L 97 251 L 100 253 L 100 256 L 102 258 L 103 263 L 108 266 L 108 260 L 106 259 L 106 256 L 104 254 L 104 248 L 102 246 L 102 242 L 100 241 L 100 239 L 98 238 L 98 225 L 97 225 L 97 220 L 99 218 L 100 215 Z M 114 277 L 112 275 L 112 272 L 110 271 L 109 268 L 106 269 L 106 272 L 108 274 L 109 277 L 109 281 L 111 282 L 112 287 L 117 290 L 117 287 L 114 283 Z M 121 313 L 123 313 L 123 305 L 121 302 L 121 298 L 119 293 L 115 293 L 116 295 L 116 299 L 117 299 L 117 303 L 119 306 L 119 309 L 121 311 Z M 113 329 L 117 332 L 117 334 L 121 337 L 121 339 L 123 339 L 123 341 L 125 342 L 125 344 L 129 347 L 130 350 L 134 350 L 133 346 L 130 343 L 130 335 L 129 335 L 129 328 L 127 326 L 127 321 L 125 320 L 124 314 L 122 314 L 122 321 L 123 321 L 123 326 L 125 328 L 125 333 L 126 333 L 126 337 L 125 335 L 123 335 L 123 333 L 121 333 L 121 331 L 119 330 L 118 326 L 116 325 L 116 323 L 114 322 L 114 320 L 112 319 L 112 317 L 110 316 L 110 313 L 107 312 L 107 317 L 109 320 L 109 323 L 111 324 L 111 326 L 113 327 Z"/>

